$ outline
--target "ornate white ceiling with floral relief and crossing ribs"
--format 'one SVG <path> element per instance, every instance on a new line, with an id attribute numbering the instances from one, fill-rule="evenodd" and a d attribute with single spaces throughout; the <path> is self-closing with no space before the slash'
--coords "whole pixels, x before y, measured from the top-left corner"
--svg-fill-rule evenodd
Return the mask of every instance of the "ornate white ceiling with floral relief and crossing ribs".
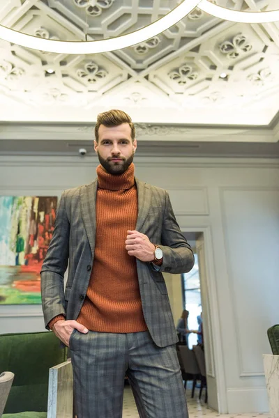
<path id="1" fill-rule="evenodd" d="M 278 8 L 278 0 L 213 1 Z M 140 29 L 178 3 L 5 0 L 0 24 L 44 38 L 103 39 Z M 223 22 L 199 9 L 151 40 L 106 54 L 50 54 L 0 41 L 0 118 L 89 123 L 117 107 L 136 122 L 267 126 L 279 110 L 278 70 L 279 22 Z"/>

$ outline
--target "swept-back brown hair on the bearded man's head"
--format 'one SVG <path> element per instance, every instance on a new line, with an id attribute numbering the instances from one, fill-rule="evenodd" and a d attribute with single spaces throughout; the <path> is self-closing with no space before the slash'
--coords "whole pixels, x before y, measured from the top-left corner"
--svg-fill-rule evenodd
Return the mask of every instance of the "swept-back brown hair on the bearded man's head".
<path id="1" fill-rule="evenodd" d="M 104 111 L 97 116 L 97 122 L 95 125 L 95 139 L 99 141 L 99 127 L 100 125 L 105 125 L 107 127 L 119 126 L 122 123 L 128 123 L 131 128 L 131 137 L 132 141 L 135 139 L 135 125 L 132 122 L 132 119 L 128 114 L 123 110 L 112 109 L 109 111 Z"/>

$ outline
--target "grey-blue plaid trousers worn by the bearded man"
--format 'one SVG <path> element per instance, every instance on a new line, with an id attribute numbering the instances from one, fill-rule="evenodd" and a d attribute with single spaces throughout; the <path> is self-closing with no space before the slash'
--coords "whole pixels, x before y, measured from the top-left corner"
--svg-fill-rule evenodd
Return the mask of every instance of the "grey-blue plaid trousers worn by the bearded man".
<path id="1" fill-rule="evenodd" d="M 74 330 L 70 351 L 77 418 L 121 418 L 125 373 L 140 418 L 188 418 L 175 344 L 158 347 L 148 331 Z"/>

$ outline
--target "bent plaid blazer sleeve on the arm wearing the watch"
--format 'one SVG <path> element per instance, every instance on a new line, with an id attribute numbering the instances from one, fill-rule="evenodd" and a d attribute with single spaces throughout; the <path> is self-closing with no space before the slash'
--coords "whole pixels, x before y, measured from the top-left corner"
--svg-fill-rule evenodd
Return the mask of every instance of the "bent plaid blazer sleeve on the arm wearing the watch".
<path id="1" fill-rule="evenodd" d="M 193 251 L 176 222 L 169 194 L 165 191 L 165 213 L 159 247 L 163 250 L 160 272 L 181 274 L 189 272 L 195 264 Z"/>

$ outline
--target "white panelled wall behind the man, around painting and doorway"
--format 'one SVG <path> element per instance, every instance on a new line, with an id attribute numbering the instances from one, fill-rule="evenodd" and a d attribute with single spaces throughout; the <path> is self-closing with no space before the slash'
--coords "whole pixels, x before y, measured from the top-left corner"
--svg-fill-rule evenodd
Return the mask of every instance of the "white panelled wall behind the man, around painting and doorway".
<path id="1" fill-rule="evenodd" d="M 262 354 L 278 323 L 279 163 L 137 157 L 169 191 L 183 231 L 203 231 L 220 412 L 268 410 Z M 95 157 L 0 157 L 0 194 L 57 195 L 95 177 Z M 43 330 L 40 307 L 0 306 L 0 332 Z"/>

